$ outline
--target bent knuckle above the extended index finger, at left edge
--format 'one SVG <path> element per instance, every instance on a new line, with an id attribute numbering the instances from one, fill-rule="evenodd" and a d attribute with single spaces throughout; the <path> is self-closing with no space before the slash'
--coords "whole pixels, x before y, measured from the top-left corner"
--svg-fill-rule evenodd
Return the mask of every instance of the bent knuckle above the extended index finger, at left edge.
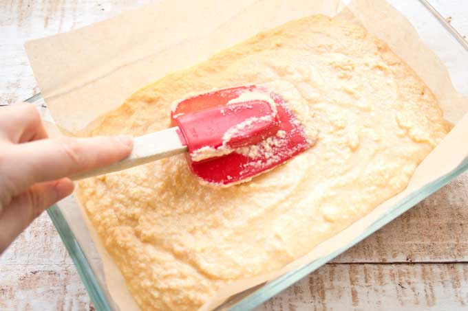
<path id="1" fill-rule="evenodd" d="M 0 124 L 0 135 L 12 143 L 47 137 L 39 111 L 27 102 L 1 108 Z"/>

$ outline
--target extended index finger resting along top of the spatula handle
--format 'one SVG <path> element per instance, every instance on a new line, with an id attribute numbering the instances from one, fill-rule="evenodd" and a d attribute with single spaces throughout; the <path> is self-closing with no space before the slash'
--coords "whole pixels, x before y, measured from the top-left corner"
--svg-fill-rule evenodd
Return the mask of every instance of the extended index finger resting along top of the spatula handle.
<path id="1" fill-rule="evenodd" d="M 14 146 L 11 157 L 23 165 L 21 174 L 15 174 L 14 166 L 5 171 L 24 190 L 32 183 L 109 165 L 127 157 L 132 148 L 129 136 L 41 139 Z"/>

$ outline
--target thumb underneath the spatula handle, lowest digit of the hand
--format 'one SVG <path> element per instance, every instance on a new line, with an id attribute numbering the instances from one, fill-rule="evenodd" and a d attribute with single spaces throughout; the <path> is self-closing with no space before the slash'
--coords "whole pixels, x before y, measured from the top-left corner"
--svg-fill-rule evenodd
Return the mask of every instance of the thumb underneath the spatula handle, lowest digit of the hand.
<path id="1" fill-rule="evenodd" d="M 16 196 L 0 215 L 0 253 L 47 207 L 73 192 L 68 178 L 36 183 Z"/>

